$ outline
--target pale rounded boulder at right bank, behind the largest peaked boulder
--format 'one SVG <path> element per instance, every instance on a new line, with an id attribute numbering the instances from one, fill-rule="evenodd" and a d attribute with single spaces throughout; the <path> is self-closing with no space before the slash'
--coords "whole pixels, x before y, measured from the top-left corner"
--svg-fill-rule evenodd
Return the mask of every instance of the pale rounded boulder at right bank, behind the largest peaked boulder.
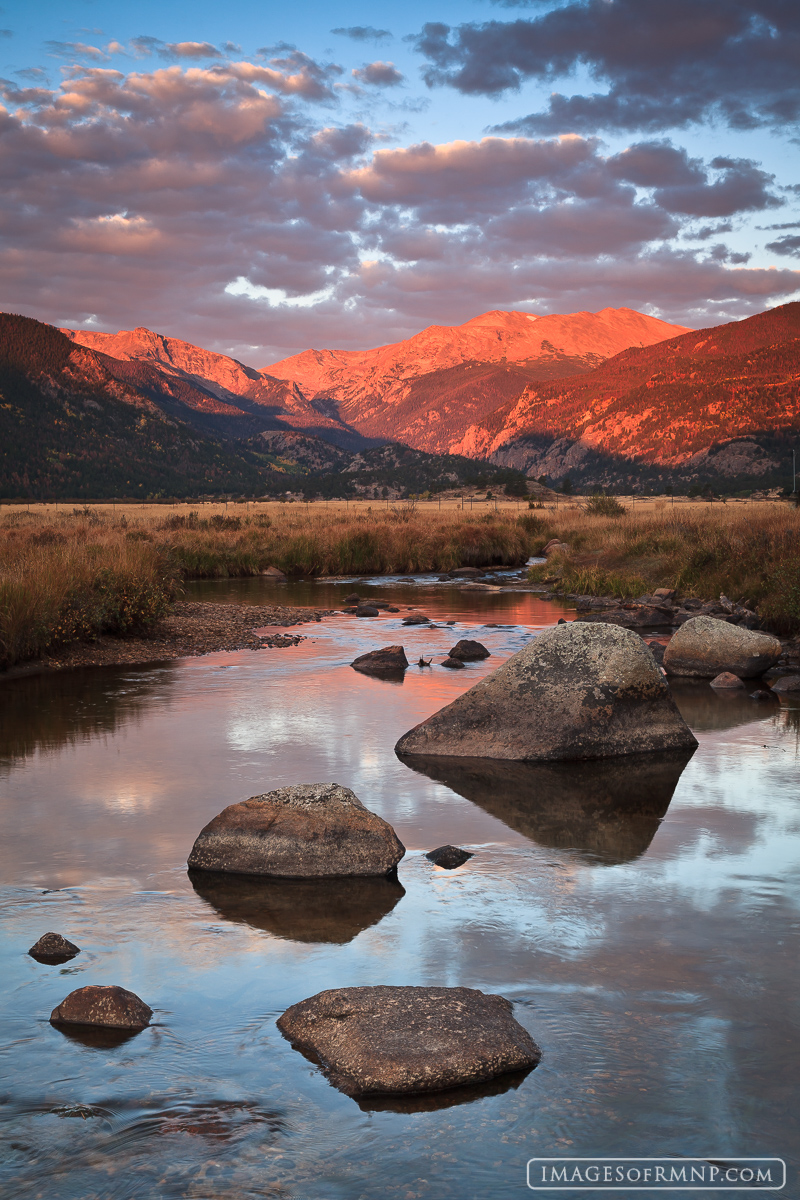
<path id="1" fill-rule="evenodd" d="M 716 617 L 692 617 L 664 650 L 668 674 L 714 679 L 723 671 L 752 679 L 775 666 L 783 647 L 771 634 L 730 625 Z"/>

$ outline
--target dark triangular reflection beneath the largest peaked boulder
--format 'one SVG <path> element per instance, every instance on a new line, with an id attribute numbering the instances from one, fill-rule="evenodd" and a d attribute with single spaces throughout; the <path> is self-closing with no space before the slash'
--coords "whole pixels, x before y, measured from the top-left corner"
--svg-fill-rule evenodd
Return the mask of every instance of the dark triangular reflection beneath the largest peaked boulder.
<path id="1" fill-rule="evenodd" d="M 420 758 L 405 764 L 445 784 L 540 846 L 630 863 L 652 841 L 693 751 L 578 763 Z"/>

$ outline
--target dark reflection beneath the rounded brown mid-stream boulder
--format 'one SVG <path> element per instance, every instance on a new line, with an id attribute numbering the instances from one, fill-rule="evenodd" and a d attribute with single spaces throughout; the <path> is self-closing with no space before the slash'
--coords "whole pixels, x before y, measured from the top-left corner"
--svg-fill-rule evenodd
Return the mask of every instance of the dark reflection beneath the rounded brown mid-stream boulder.
<path id="1" fill-rule="evenodd" d="M 397 878 L 261 880 L 190 871 L 192 887 L 221 917 L 291 942 L 344 946 L 377 925 L 405 895 Z"/>

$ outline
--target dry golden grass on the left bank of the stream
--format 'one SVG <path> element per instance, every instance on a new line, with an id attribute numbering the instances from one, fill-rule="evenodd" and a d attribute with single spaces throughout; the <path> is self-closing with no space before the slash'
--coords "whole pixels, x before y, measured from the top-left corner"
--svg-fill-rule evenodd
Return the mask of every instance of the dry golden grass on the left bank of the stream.
<path id="1" fill-rule="evenodd" d="M 25 506 L 0 521 L 0 666 L 101 632 L 144 630 L 181 578 L 267 566 L 365 575 L 519 564 L 530 540 L 516 510 Z"/>

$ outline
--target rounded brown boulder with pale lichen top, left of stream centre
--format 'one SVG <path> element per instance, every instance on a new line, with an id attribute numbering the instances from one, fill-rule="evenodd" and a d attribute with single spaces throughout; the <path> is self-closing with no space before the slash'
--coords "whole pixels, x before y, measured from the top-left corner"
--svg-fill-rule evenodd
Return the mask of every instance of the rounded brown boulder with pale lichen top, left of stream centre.
<path id="1" fill-rule="evenodd" d="M 325 878 L 387 875 L 405 853 L 397 834 L 339 784 L 300 784 L 223 809 L 200 832 L 188 866 Z"/>

